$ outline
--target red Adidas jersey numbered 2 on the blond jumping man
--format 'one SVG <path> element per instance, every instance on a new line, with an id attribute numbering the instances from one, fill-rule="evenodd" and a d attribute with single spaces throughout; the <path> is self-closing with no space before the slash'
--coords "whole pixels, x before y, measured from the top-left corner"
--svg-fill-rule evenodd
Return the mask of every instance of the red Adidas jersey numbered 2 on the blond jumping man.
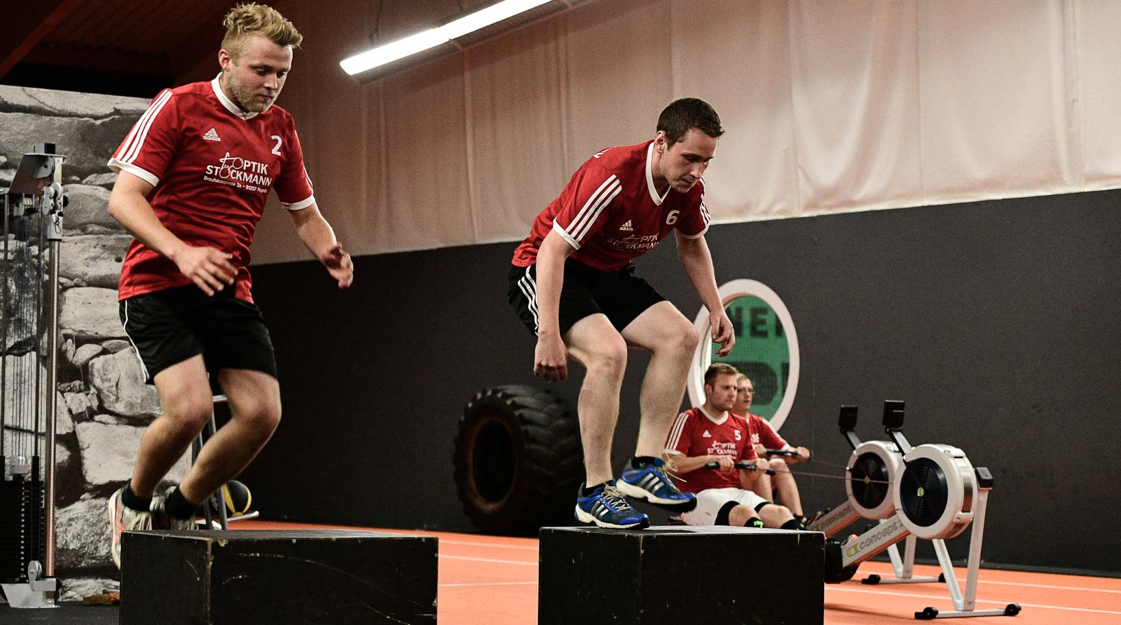
<path id="1" fill-rule="evenodd" d="M 233 254 L 234 295 L 252 301 L 249 245 L 269 189 L 285 208 L 315 203 L 291 115 L 279 106 L 245 113 L 219 86 L 192 83 L 164 90 L 109 160 L 155 189 L 148 195 L 164 227 L 188 245 Z M 118 297 L 189 284 L 166 256 L 137 240 L 121 267 Z"/>

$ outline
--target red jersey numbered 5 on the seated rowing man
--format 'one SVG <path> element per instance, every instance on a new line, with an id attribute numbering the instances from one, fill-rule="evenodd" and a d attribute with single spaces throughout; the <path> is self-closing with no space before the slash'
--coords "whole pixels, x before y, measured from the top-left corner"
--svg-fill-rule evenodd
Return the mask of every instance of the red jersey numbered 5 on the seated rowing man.
<path id="1" fill-rule="evenodd" d="M 666 449 L 687 458 L 696 456 L 731 456 L 734 461 L 754 460 L 756 450 L 750 445 L 748 422 L 739 414 L 728 413 L 722 421 L 710 417 L 701 408 L 691 408 L 677 416 L 669 429 Z M 698 468 L 680 475 L 677 487 L 687 493 L 706 488 L 741 488 L 739 470 Z"/>

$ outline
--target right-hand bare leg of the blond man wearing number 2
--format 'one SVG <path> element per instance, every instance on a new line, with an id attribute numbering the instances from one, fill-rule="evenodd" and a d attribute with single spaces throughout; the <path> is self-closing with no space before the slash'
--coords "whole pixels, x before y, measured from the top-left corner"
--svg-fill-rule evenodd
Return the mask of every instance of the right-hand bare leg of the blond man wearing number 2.
<path id="1" fill-rule="evenodd" d="M 276 377 L 260 371 L 223 369 L 217 379 L 230 405 L 230 422 L 206 441 L 179 484 L 183 497 L 200 505 L 249 466 L 280 423 Z"/>

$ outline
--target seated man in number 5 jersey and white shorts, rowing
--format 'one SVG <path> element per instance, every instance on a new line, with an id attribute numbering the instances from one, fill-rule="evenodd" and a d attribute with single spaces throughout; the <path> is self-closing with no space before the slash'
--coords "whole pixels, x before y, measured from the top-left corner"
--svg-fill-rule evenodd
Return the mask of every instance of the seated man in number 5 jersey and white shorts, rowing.
<path id="1" fill-rule="evenodd" d="M 747 421 L 731 412 L 739 374 L 726 363 L 710 366 L 704 374 L 704 404 L 682 412 L 669 430 L 666 464 L 676 474 L 677 487 L 697 498 L 696 509 L 682 513 L 682 521 L 689 525 L 800 530 L 788 509 L 744 486 L 744 476 L 767 470 L 767 463 L 756 457 Z M 752 468 L 739 468 L 738 463 Z M 715 470 L 708 470 L 710 465 Z"/>

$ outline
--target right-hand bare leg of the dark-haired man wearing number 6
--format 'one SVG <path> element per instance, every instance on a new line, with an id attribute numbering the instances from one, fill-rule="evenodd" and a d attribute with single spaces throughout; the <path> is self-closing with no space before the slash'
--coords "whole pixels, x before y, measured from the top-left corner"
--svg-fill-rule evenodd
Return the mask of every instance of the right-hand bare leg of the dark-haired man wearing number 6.
<path id="1" fill-rule="evenodd" d="M 628 345 L 651 352 L 642 379 L 636 456 L 660 458 L 666 437 L 685 397 L 685 381 L 698 335 L 673 304 L 659 301 L 623 328 Z"/>

